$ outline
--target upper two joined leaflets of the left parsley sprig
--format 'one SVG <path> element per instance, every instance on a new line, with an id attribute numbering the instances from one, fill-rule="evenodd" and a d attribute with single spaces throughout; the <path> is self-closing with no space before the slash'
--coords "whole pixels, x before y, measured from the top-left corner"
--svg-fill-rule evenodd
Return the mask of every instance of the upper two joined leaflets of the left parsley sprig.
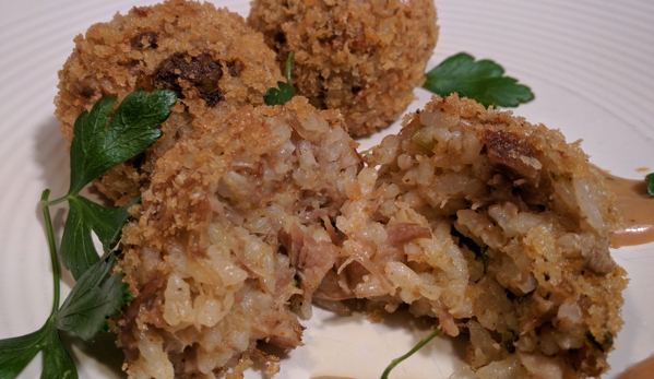
<path id="1" fill-rule="evenodd" d="M 93 179 L 127 159 L 138 155 L 160 135 L 153 128 L 168 118 L 177 102 L 173 91 L 155 91 L 146 96 L 136 91 L 127 96 L 107 119 L 116 97 L 99 99 L 91 112 L 75 120 L 70 147 L 70 187 L 67 196 L 49 201 L 53 205 L 68 200 L 70 213 L 61 238 L 61 263 L 79 280 L 98 261 L 91 230 L 95 232 L 105 251 L 120 237 L 122 224 L 129 217 L 127 210 L 107 209 L 82 198 L 79 192 Z"/>

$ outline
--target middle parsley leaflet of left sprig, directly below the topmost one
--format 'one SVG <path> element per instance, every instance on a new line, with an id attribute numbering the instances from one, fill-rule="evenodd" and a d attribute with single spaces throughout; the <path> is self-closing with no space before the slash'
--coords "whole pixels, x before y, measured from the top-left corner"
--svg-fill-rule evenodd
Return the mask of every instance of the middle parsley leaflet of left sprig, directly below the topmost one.
<path id="1" fill-rule="evenodd" d="M 122 226 L 130 217 L 129 209 L 138 201 L 134 198 L 122 208 L 105 208 L 81 196 L 68 197 L 70 210 L 59 256 L 75 280 L 99 260 L 91 232 L 95 232 L 103 244 L 103 252 L 108 252 L 120 238 Z"/>

